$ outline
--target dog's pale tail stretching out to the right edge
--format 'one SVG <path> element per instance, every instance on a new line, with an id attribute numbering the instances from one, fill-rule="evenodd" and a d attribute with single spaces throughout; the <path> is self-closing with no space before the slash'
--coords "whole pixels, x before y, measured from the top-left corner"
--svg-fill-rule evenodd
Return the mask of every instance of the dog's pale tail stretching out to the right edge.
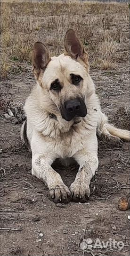
<path id="1" fill-rule="evenodd" d="M 101 112 L 100 124 L 98 127 L 98 135 L 101 136 L 101 134 L 108 137 L 117 137 L 117 138 L 130 141 L 130 131 L 116 128 L 114 127 L 114 125 L 109 124 L 107 117 L 102 112 Z"/>

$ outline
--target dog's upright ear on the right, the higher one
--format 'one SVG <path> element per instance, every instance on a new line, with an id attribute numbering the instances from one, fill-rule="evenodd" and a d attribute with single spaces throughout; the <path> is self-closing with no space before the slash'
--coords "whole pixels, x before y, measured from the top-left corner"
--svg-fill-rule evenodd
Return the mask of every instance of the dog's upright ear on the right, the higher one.
<path id="1" fill-rule="evenodd" d="M 81 41 L 77 37 L 73 29 L 69 29 L 65 35 L 65 55 L 71 56 L 73 59 L 80 62 L 89 72 L 89 56 L 85 51 Z"/>

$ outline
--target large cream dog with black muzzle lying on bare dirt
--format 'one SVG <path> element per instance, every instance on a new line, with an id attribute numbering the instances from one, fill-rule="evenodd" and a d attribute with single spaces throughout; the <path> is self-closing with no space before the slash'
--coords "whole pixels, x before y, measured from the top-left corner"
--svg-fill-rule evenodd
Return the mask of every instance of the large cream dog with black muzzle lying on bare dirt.
<path id="1" fill-rule="evenodd" d="M 98 169 L 97 133 L 130 140 L 130 132 L 114 128 L 101 112 L 88 54 L 73 29 L 58 57 L 50 57 L 44 44 L 34 44 L 32 72 L 37 85 L 25 102 L 27 121 L 21 128 L 32 150 L 32 175 L 43 180 L 55 202 L 86 201 Z M 51 167 L 56 158 L 73 158 L 80 166 L 70 188 Z"/>

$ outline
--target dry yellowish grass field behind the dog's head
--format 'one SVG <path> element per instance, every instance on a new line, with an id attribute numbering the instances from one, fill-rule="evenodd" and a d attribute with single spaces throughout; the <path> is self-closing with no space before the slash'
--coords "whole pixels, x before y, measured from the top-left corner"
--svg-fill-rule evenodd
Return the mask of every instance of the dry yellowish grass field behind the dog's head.
<path id="1" fill-rule="evenodd" d="M 63 52 L 66 30 L 74 28 L 94 68 L 115 69 L 129 58 L 129 5 L 80 1 L 1 2 L 1 76 L 30 71 L 32 45 L 47 42 Z"/>

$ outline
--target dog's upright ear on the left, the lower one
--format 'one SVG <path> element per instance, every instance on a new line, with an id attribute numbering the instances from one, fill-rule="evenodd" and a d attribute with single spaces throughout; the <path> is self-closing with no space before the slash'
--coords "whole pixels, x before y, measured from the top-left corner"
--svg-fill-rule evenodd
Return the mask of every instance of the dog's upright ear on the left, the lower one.
<path id="1" fill-rule="evenodd" d="M 41 42 L 36 42 L 33 46 L 32 56 L 32 72 L 36 80 L 39 79 L 41 73 L 43 74 L 49 61 L 50 56 L 47 47 Z"/>

